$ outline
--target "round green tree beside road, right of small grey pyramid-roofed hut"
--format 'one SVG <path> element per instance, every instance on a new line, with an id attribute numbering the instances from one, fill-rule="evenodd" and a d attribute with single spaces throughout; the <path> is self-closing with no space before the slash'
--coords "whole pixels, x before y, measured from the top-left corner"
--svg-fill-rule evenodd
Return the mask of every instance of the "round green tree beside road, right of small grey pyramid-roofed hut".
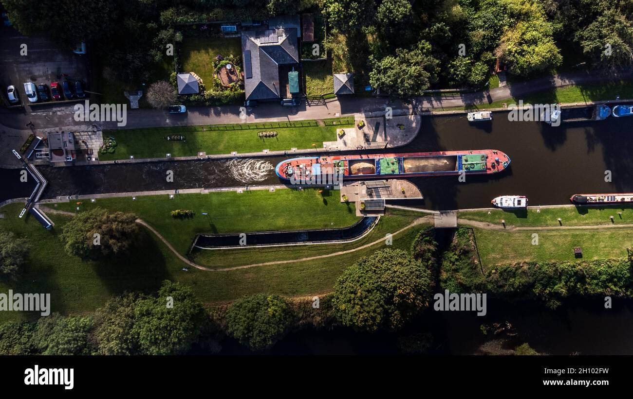
<path id="1" fill-rule="evenodd" d="M 422 41 L 413 50 L 398 49 L 396 56 L 386 56 L 380 61 L 370 56 L 371 85 L 403 100 L 422 95 L 437 80 L 438 61 L 430 52 L 430 44 Z"/>

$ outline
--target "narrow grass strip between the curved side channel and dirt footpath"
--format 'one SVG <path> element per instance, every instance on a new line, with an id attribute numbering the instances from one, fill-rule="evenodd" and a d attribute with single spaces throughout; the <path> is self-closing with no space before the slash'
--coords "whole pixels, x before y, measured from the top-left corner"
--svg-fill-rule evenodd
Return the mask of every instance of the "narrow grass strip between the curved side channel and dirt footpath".
<path id="1" fill-rule="evenodd" d="M 198 265 L 211 268 L 225 268 L 230 266 L 253 265 L 269 261 L 309 258 L 339 251 L 347 251 L 369 244 L 409 225 L 420 217 L 420 214 L 401 210 L 389 210 L 386 217 L 380 218 L 378 224 L 365 237 L 358 241 L 344 244 L 318 244 L 287 247 L 262 247 L 258 249 L 194 249 L 192 261 Z M 393 237 L 400 239 L 399 235 Z M 312 261 L 311 261 L 312 262 Z"/>

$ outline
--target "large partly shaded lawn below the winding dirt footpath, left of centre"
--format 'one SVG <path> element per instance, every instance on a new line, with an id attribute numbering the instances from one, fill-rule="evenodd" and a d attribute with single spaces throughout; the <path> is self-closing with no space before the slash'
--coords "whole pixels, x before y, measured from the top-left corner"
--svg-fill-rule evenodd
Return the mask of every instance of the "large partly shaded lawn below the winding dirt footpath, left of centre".
<path id="1" fill-rule="evenodd" d="M 385 242 L 381 241 L 367 249 L 310 262 L 298 261 L 217 273 L 189 266 L 189 270 L 184 271 L 182 268 L 187 265 L 180 262 L 151 232 L 142 229 L 137 239 L 137 250 L 126 258 L 82 261 L 75 256 L 68 256 L 61 245 L 59 234 L 69 217 L 50 213 L 49 217 L 56 226 L 47 231 L 28 214 L 25 218 L 18 218 L 21 208 L 21 204 L 1 208 L 4 218 L 0 218 L 0 229 L 27 236 L 33 248 L 22 276 L 15 281 L 0 282 L 0 292 L 13 289 L 14 292 L 23 293 L 50 293 L 51 310 L 62 314 L 94 311 L 103 306 L 112 295 L 122 294 L 126 290 L 155 291 L 165 279 L 191 286 L 196 296 L 205 303 L 232 301 L 242 295 L 260 292 L 280 295 L 330 292 L 345 268 L 361 256 L 385 247 Z M 376 230 L 374 235 L 379 237 L 386 232 L 394 232 L 399 226 L 408 224 L 408 220 L 418 216 L 407 217 L 404 213 L 396 215 L 381 218 L 379 223 L 384 223 L 384 227 L 379 224 L 376 229 L 380 230 Z M 390 220 L 392 217 L 397 220 Z M 427 227 L 419 225 L 394 236 L 392 247 L 409 250 L 417 232 Z M 172 226 L 172 230 L 177 229 Z M 365 242 L 358 242 L 358 246 L 363 243 Z M 342 244 L 336 248 L 334 245 L 327 251 L 335 252 L 349 246 L 350 244 Z M 280 253 L 280 258 L 287 259 L 292 255 L 291 252 L 292 250 Z M 259 253 L 260 249 L 254 249 L 253 258 Z M 301 253 L 298 255 L 301 256 Z M 273 253 L 264 254 L 262 258 L 264 257 L 272 259 Z M 39 317 L 39 313 L 1 312 L 0 322 Z"/>

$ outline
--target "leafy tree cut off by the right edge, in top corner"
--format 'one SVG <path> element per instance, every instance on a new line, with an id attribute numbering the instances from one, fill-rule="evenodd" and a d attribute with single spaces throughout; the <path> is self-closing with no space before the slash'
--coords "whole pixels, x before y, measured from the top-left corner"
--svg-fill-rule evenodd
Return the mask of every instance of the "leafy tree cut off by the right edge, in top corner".
<path id="1" fill-rule="evenodd" d="M 577 33 L 582 52 L 596 66 L 611 68 L 633 64 L 633 21 L 617 9 L 606 9 L 586 29 Z"/>

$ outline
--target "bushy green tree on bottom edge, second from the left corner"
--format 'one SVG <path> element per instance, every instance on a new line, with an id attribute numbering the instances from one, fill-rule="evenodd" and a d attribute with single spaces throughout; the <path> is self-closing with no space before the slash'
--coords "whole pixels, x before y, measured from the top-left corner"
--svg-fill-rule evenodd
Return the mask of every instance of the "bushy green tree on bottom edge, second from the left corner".
<path id="1" fill-rule="evenodd" d="M 37 321 L 32 343 L 42 355 L 91 355 L 96 349 L 91 341 L 92 327 L 89 316 L 53 313 Z"/>

